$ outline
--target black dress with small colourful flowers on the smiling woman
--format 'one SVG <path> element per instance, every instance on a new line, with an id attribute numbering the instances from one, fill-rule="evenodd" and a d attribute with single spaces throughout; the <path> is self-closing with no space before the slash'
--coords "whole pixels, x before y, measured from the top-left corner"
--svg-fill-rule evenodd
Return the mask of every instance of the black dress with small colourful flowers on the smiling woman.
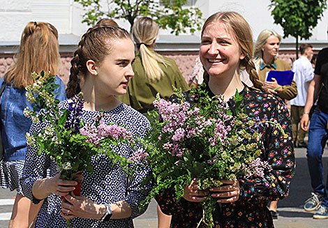
<path id="1" fill-rule="evenodd" d="M 211 93 L 209 86 L 204 88 Z M 184 92 L 189 102 L 197 102 L 195 96 L 189 96 Z M 290 114 L 281 100 L 270 93 L 264 93 L 257 89 L 245 87 L 242 107 L 248 116 L 255 121 L 276 120 L 285 131 L 285 136 L 274 126 L 262 125 L 264 149 L 261 159 L 269 162 L 272 170 L 264 177 L 251 176 L 239 178 L 240 195 L 237 202 L 222 204 L 222 208 L 216 207 L 214 213 L 215 228 L 222 227 L 274 227 L 271 213 L 267 208 L 269 201 L 276 201 L 288 196 L 291 178 L 295 172 L 295 150 L 292 144 L 292 128 Z M 171 99 L 174 101 L 174 97 Z M 228 104 L 234 110 L 234 100 Z M 202 218 L 202 205 L 180 199 L 177 202 L 174 191 L 164 192 L 156 198 L 163 213 L 172 215 L 170 227 L 197 227 L 197 222 Z"/>

